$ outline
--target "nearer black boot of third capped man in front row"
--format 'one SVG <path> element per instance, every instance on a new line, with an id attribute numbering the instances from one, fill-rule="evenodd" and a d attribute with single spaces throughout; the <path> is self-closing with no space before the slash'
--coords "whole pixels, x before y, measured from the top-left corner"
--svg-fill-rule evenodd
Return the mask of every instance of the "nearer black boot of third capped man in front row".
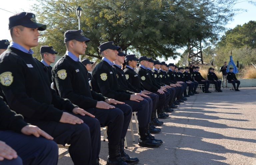
<path id="1" fill-rule="evenodd" d="M 139 143 L 138 143 L 139 146 L 153 148 L 153 147 L 159 147 L 161 145 L 160 142 L 157 142 L 148 136 L 148 128 L 147 127 L 139 126 L 139 132 L 140 132 Z"/>

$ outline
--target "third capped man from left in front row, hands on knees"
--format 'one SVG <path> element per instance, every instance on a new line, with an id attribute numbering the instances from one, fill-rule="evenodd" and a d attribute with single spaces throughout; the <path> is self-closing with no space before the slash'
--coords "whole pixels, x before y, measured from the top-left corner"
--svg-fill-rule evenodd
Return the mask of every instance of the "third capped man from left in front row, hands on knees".
<path id="1" fill-rule="evenodd" d="M 92 71 L 92 89 L 95 92 L 102 93 L 105 97 L 122 101 L 131 106 L 133 112 L 138 112 L 139 145 L 158 147 L 162 144 L 162 140 L 154 139 L 154 136 L 148 133 L 148 121 L 151 116 L 148 101 L 143 99 L 140 94 L 122 90 L 118 84 L 112 65 L 113 61 L 117 59 L 117 50 L 120 48 L 113 41 L 104 42 L 99 46 L 99 52 L 103 58 Z"/>

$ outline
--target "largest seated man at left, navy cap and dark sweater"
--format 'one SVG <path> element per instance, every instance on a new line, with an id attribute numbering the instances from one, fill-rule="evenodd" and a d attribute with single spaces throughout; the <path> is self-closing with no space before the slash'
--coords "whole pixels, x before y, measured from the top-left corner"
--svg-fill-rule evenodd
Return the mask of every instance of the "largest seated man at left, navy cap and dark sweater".
<path id="1" fill-rule="evenodd" d="M 100 124 L 94 116 L 56 95 L 50 88 L 47 68 L 33 58 L 31 47 L 38 45 L 33 13 L 17 13 L 9 18 L 12 42 L 0 56 L 0 88 L 10 108 L 54 137 L 58 144 L 70 144 L 74 165 L 91 165 L 92 148 L 99 150 Z M 84 124 L 83 118 L 89 123 Z M 90 128 L 89 128 L 90 127 Z M 95 137 L 95 144 L 91 137 Z M 94 149 L 93 149 L 94 150 Z"/>

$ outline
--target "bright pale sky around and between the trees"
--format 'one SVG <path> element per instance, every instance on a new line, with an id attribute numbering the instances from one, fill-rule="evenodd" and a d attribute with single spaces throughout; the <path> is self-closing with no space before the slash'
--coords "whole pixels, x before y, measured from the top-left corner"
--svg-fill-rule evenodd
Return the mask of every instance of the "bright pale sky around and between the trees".
<path id="1" fill-rule="evenodd" d="M 256 1 L 256 0 L 254 0 Z M 32 12 L 33 9 L 31 5 L 36 3 L 35 0 L 8 0 L 8 1 L 1 1 L 0 6 L 0 15 L 1 15 L 1 26 L 0 26 L 0 40 L 11 40 L 10 32 L 8 30 L 8 22 L 9 17 L 13 15 L 13 13 L 19 13 L 19 12 Z M 11 4 L 11 5 L 10 5 Z M 237 3 L 233 8 L 242 8 L 247 11 L 240 11 L 238 12 L 234 18 L 233 21 L 230 21 L 227 23 L 227 28 L 235 28 L 237 25 L 243 25 L 244 23 L 247 23 L 249 21 L 256 21 L 256 6 L 248 3 L 248 1 L 241 0 L 240 3 Z M 5 11 L 7 10 L 7 11 Z M 9 11 L 9 12 L 8 12 Z M 10 13 L 12 12 L 12 13 Z M 221 33 L 220 35 L 224 35 L 224 33 Z M 180 53 L 183 53 L 184 50 L 179 49 L 177 50 Z M 161 59 L 159 59 L 161 60 Z M 176 60 L 168 59 L 166 63 L 177 63 L 179 58 Z"/>

